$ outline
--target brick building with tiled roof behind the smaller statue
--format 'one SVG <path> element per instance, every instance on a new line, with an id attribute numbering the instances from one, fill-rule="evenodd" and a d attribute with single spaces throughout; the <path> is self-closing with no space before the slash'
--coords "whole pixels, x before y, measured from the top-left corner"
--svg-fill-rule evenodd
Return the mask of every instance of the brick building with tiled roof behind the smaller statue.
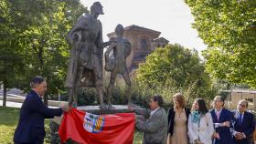
<path id="1" fill-rule="evenodd" d="M 161 32 L 144 28 L 142 26 L 124 27 L 123 37 L 131 43 L 131 54 L 126 59 L 126 65 L 130 72 L 144 62 L 145 57 L 151 54 L 155 48 L 164 47 L 169 43 L 164 37 L 159 37 Z M 107 35 L 109 39 L 116 37 L 114 32 Z"/>

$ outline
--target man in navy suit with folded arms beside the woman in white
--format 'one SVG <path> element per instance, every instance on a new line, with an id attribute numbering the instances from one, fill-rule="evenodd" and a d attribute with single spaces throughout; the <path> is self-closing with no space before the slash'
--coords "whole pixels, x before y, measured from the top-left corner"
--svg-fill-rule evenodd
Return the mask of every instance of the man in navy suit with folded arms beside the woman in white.
<path id="1" fill-rule="evenodd" d="M 224 98 L 216 96 L 214 98 L 213 109 L 210 110 L 215 132 L 213 134 L 213 144 L 233 144 L 230 126 L 233 119 L 232 113 L 224 107 Z"/>

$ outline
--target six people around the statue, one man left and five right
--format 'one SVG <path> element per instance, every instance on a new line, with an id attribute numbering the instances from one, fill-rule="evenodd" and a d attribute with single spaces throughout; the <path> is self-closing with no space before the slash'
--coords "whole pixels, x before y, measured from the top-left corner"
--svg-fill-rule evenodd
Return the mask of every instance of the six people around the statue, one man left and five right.
<path id="1" fill-rule="evenodd" d="M 21 110 L 14 142 L 43 143 L 46 135 L 44 119 L 69 112 L 69 106 L 47 108 L 41 99 L 47 90 L 44 77 L 34 77 Z M 150 99 L 150 109 L 130 108 L 136 114 L 136 128 L 144 132 L 144 144 L 251 144 L 255 128 L 254 116 L 247 111 L 248 101 L 241 99 L 237 109 L 224 108 L 224 98 L 213 99 L 208 110 L 202 98 L 196 98 L 187 108 L 181 93 L 173 96 L 174 107 L 166 113 L 161 96 Z"/>

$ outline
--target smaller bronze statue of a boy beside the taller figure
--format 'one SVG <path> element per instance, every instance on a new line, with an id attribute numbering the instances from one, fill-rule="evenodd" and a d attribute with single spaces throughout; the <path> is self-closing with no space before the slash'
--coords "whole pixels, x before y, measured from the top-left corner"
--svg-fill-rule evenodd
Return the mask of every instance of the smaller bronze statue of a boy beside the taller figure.
<path id="1" fill-rule="evenodd" d="M 115 34 L 117 37 L 113 37 L 111 46 L 109 46 L 105 52 L 105 69 L 111 71 L 111 80 L 107 89 L 108 105 L 112 108 L 111 98 L 112 90 L 117 74 L 122 74 L 126 83 L 126 95 L 128 98 L 128 105 L 132 105 L 131 100 L 131 79 L 126 67 L 126 57 L 131 53 L 131 44 L 127 39 L 123 38 L 123 26 L 118 25 L 115 28 Z M 112 56 L 110 53 L 112 52 Z"/>

